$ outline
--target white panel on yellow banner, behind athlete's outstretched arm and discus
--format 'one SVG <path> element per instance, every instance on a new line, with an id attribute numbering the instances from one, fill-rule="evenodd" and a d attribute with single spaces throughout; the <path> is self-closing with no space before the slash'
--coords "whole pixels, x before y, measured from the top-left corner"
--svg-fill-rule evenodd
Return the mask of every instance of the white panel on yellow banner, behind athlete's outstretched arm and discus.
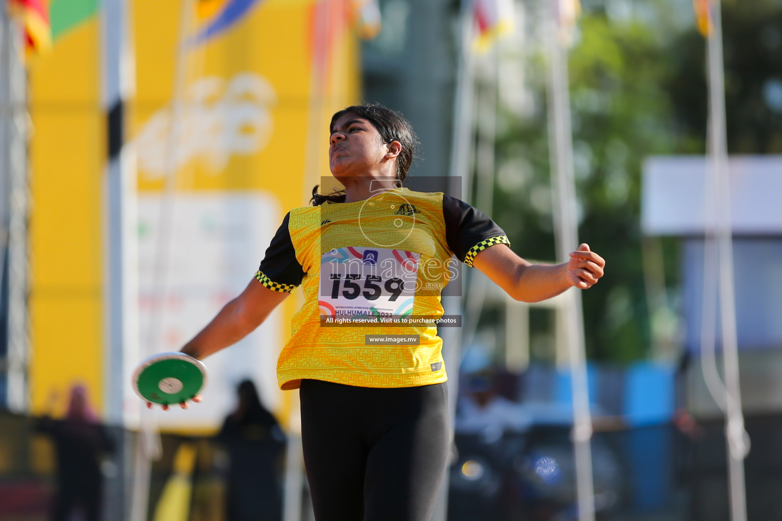
<path id="1" fill-rule="evenodd" d="M 160 230 L 160 194 L 138 198 L 139 304 L 142 353 L 178 351 L 254 280 L 266 248 L 279 227 L 273 195 L 262 192 L 195 192 L 171 198 L 171 228 L 165 294 L 158 307 L 153 287 Z M 162 308 L 162 310 L 161 310 Z M 152 312 L 161 312 L 161 339 L 150 346 Z M 244 340 L 204 360 L 208 380 L 203 402 L 158 416 L 162 428 L 217 428 L 236 405 L 236 384 L 250 378 L 268 409 L 280 392 L 276 364 L 280 311 Z M 142 405 L 127 386 L 126 409 Z"/>

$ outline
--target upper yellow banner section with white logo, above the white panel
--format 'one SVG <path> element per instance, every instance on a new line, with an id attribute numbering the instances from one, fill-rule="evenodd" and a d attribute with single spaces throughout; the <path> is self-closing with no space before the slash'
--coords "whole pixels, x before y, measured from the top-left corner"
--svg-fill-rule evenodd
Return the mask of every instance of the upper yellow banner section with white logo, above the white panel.
<path id="1" fill-rule="evenodd" d="M 328 175 L 328 117 L 359 95 L 350 1 L 189 4 L 203 7 L 135 2 L 139 189 L 160 189 L 173 169 L 178 190 L 262 190 L 285 211 L 301 205 L 308 140 L 323 159 L 307 176 L 317 180 Z M 190 29 L 178 49 L 179 20 Z"/>

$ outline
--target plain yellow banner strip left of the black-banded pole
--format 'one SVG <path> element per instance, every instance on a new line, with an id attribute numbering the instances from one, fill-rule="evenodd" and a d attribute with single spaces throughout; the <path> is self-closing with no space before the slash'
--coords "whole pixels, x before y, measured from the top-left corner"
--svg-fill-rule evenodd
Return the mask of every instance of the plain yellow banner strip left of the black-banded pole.
<path id="1" fill-rule="evenodd" d="M 84 384 L 102 410 L 102 189 L 99 23 L 63 34 L 30 61 L 30 400 L 66 409 Z M 50 402 L 50 398 L 52 398 Z"/>

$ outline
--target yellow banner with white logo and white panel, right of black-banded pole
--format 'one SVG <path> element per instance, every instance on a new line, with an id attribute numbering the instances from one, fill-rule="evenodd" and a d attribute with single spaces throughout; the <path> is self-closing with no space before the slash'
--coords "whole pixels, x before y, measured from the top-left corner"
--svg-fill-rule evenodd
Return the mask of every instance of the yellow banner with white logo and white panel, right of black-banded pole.
<path id="1" fill-rule="evenodd" d="M 170 259 L 160 350 L 170 351 L 252 280 L 285 213 L 308 204 L 328 175 L 328 121 L 358 98 L 350 7 L 348 0 L 135 2 L 142 341 L 159 311 L 152 266 L 160 244 Z M 171 30 L 178 24 L 185 30 Z M 161 243 L 167 179 L 174 197 L 163 215 L 173 231 Z M 290 397 L 278 391 L 275 366 L 299 304 L 289 298 L 282 313 L 207 359 L 205 401 L 163 416 L 163 426 L 217 426 L 244 377 L 285 420 Z"/>

